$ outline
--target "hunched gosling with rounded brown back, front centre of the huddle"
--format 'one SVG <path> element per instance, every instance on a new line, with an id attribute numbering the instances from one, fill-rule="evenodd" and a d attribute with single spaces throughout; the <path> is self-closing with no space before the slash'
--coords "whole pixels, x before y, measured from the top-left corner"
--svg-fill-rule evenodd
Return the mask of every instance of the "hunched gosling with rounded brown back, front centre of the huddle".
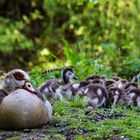
<path id="1" fill-rule="evenodd" d="M 96 80 L 94 80 L 96 81 Z M 91 83 L 90 81 L 82 81 L 73 84 L 74 92 L 87 99 L 88 103 L 93 107 L 106 105 L 107 91 L 100 84 Z"/>

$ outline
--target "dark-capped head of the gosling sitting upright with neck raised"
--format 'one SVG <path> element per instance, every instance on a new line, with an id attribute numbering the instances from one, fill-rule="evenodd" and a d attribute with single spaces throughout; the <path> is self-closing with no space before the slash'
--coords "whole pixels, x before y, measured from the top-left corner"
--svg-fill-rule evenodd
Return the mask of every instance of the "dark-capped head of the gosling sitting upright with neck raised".
<path id="1" fill-rule="evenodd" d="M 74 74 L 73 72 L 73 69 L 68 67 L 68 68 L 65 68 L 62 72 L 62 77 L 63 77 L 63 80 L 64 82 L 67 84 L 67 83 L 73 83 L 73 79 L 77 79 L 76 75 Z"/>

